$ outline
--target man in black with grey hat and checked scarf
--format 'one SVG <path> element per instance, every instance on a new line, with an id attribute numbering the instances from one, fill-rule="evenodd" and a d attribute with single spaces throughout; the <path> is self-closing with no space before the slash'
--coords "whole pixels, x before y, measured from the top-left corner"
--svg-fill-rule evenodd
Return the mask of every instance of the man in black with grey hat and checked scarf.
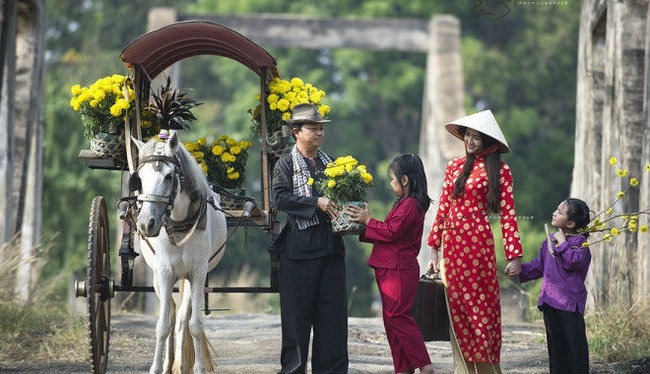
<path id="1" fill-rule="evenodd" d="M 280 373 L 305 373 L 313 329 L 312 373 L 347 373 L 345 247 L 332 233 L 336 204 L 313 187 L 332 160 L 318 148 L 323 119 L 313 104 L 293 108 L 296 145 L 273 172 L 273 198 L 287 214 L 273 250 L 280 256 L 278 290 L 282 320 Z"/>

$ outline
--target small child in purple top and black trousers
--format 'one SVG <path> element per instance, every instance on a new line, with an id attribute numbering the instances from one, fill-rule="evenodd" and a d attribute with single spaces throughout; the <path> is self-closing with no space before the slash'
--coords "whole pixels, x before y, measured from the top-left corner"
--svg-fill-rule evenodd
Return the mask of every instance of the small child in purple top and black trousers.
<path id="1" fill-rule="evenodd" d="M 554 373 L 589 373 L 589 347 L 585 332 L 585 278 L 591 263 L 588 233 L 589 207 L 579 199 L 560 203 L 551 225 L 558 231 L 542 243 L 539 256 L 522 265 L 519 280 L 542 278 L 537 307 L 544 313 L 549 366 Z M 514 274 L 509 274 L 513 278 Z"/>

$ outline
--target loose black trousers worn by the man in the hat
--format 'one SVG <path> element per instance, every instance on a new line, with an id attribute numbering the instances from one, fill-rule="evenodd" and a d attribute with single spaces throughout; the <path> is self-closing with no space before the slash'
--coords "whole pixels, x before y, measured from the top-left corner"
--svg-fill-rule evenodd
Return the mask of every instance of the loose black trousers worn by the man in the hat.
<path id="1" fill-rule="evenodd" d="M 348 372 L 345 258 L 280 258 L 281 373 L 305 373 L 313 329 L 312 373 Z"/>

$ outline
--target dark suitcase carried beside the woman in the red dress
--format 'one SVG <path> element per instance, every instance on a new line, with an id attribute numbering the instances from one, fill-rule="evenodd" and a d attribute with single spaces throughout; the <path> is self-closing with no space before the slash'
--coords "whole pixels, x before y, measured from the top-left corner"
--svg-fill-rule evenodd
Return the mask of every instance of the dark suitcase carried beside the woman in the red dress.
<path id="1" fill-rule="evenodd" d="M 415 319 L 425 342 L 449 341 L 449 313 L 445 285 L 433 269 L 420 277 L 411 317 Z"/>

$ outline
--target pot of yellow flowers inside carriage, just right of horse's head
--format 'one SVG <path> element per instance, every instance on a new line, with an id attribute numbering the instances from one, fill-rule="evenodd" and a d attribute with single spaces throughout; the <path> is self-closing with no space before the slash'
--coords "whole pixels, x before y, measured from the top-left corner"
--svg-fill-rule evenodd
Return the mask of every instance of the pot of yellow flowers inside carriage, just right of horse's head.
<path id="1" fill-rule="evenodd" d="M 200 138 L 193 143 L 185 143 L 185 148 L 203 169 L 208 181 L 228 191 L 221 196 L 221 207 L 239 209 L 242 202 L 233 196 L 244 196 L 244 184 L 248 149 L 253 145 L 248 140 L 238 141 L 228 135 L 221 135 L 212 143 Z M 232 195 L 232 196 L 229 196 Z"/>

